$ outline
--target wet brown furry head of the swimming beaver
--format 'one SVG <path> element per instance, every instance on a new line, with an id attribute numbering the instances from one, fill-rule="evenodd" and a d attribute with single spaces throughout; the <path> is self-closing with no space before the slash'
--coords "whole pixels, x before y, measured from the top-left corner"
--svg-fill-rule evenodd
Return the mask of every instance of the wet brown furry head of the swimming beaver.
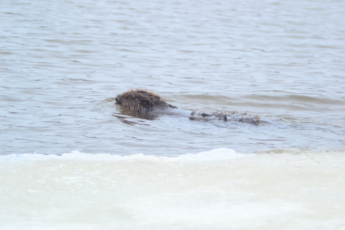
<path id="1" fill-rule="evenodd" d="M 141 89 L 119 94 L 116 96 L 116 103 L 145 115 L 155 109 L 177 108 L 161 100 L 157 94 Z"/>

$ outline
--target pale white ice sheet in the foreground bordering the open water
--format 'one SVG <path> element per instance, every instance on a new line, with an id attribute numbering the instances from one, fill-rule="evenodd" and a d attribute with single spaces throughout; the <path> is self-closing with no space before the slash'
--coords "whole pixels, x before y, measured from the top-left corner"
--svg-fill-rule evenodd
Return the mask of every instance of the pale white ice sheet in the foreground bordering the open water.
<path id="1" fill-rule="evenodd" d="M 340 229 L 345 156 L 0 156 L 1 229 Z M 17 221 L 20 220 L 20 221 Z"/>

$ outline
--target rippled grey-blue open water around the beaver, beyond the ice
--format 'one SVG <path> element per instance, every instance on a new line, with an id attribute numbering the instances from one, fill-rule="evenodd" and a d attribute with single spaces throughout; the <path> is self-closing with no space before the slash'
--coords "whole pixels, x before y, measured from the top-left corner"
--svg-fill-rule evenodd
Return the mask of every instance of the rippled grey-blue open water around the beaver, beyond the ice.
<path id="1" fill-rule="evenodd" d="M 342 1 L 4 1 L 2 153 L 343 151 L 344 9 Z M 248 110 L 271 125 L 126 117 L 128 125 L 111 115 L 130 88 L 190 111 Z"/>

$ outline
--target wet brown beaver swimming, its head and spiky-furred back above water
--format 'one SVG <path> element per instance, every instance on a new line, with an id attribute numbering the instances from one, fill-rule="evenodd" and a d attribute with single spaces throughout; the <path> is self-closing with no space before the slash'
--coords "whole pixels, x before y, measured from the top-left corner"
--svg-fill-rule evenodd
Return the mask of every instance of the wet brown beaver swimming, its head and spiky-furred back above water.
<path id="1" fill-rule="evenodd" d="M 177 109 L 176 106 L 172 106 L 171 104 L 168 104 L 167 102 L 161 100 L 160 96 L 142 89 L 136 89 L 136 90 L 128 90 L 124 93 L 121 93 L 116 96 L 116 103 L 119 105 L 122 105 L 128 109 L 137 111 L 140 115 L 146 116 L 148 112 L 154 111 L 154 110 L 166 110 L 166 109 Z M 235 111 L 236 112 L 236 111 Z M 190 113 L 189 119 L 190 120 L 201 120 L 206 119 L 207 117 L 217 117 L 221 120 L 227 121 L 228 114 L 234 115 L 233 113 L 227 113 L 227 112 L 215 112 L 212 114 L 207 113 L 196 113 L 195 110 L 193 110 Z M 259 124 L 259 117 L 245 117 L 245 114 L 241 114 L 242 117 L 234 117 L 232 120 L 236 120 L 239 122 L 247 122 L 252 124 Z"/>

